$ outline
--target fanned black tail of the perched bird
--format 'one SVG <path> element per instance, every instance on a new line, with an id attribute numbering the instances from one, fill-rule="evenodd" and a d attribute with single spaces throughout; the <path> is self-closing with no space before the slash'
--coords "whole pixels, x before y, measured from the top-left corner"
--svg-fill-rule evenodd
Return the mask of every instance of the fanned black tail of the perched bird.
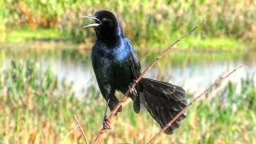
<path id="1" fill-rule="evenodd" d="M 142 99 L 140 101 L 162 128 L 187 105 L 186 91 L 182 87 L 150 78 L 143 78 L 139 82 L 139 87 L 139 96 Z M 186 115 L 182 114 L 165 133 L 173 134 L 184 118 Z"/>

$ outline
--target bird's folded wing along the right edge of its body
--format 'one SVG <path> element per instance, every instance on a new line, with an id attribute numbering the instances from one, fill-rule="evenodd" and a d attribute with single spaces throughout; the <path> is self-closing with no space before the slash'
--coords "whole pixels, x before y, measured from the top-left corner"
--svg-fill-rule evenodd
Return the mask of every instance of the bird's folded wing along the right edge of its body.
<path id="1" fill-rule="evenodd" d="M 130 42 L 130 39 L 126 38 L 127 45 L 130 47 L 130 70 L 133 74 L 133 78 L 137 79 L 141 75 L 141 64 L 139 62 L 138 55 L 134 50 L 133 44 Z"/>

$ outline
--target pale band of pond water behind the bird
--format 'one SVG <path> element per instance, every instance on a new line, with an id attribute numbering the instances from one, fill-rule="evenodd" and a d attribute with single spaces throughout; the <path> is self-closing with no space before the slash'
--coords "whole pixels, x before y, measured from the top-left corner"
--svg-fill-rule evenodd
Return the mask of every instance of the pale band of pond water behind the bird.
<path id="1" fill-rule="evenodd" d="M 149 54 L 150 52 L 146 52 Z M 147 58 L 145 54 L 139 53 L 141 58 L 142 70 L 157 56 L 158 53 L 151 54 Z M 183 56 L 179 56 L 183 55 Z M 146 74 L 147 78 L 154 78 L 173 83 L 184 87 L 185 90 L 191 93 L 202 92 L 213 83 L 222 74 L 233 70 L 235 67 L 242 66 L 240 70 L 235 72 L 225 82 L 240 82 L 241 78 L 252 76 L 256 83 L 256 53 L 242 54 L 238 57 L 230 58 L 228 55 L 222 58 L 209 58 L 212 54 L 192 53 L 191 58 L 186 57 L 186 52 L 176 52 L 175 54 L 166 54 L 165 58 L 161 59 L 156 66 Z M 193 55 L 197 55 L 194 57 Z M 208 56 L 206 56 L 208 55 Z M 54 50 L 40 51 L 26 50 L 26 52 L 14 51 L 5 52 L 5 56 L 0 58 L 0 66 L 6 69 L 10 60 L 18 57 L 19 60 L 35 59 L 42 66 L 42 70 L 46 70 L 48 66 L 58 75 L 59 81 L 63 78 L 68 82 L 73 82 L 74 92 L 77 95 L 86 93 L 88 86 L 97 86 L 94 77 L 94 71 L 90 63 L 90 50 L 86 52 L 78 52 L 78 50 Z M 175 57 L 175 59 L 173 58 Z M 184 59 L 186 62 L 184 62 Z M 98 87 L 98 86 L 97 86 Z M 98 90 L 98 88 L 97 88 Z"/>

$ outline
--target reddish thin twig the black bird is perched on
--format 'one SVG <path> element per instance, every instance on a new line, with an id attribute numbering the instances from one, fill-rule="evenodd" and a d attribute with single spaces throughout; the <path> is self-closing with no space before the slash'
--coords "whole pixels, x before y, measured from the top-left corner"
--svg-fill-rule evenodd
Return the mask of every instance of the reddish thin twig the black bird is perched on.
<path id="1" fill-rule="evenodd" d="M 204 21 L 202 21 L 198 26 L 201 26 L 203 22 L 204 22 Z M 145 76 L 145 74 L 151 69 L 152 66 L 154 66 L 154 64 L 155 64 L 156 62 L 158 62 L 158 59 L 161 58 L 163 54 L 166 54 L 166 52 L 167 52 L 168 50 L 171 50 L 171 49 L 174 47 L 174 45 L 176 45 L 178 42 L 180 42 L 183 38 L 186 38 L 186 36 L 190 35 L 195 29 L 198 28 L 198 26 L 195 26 L 194 29 L 190 30 L 187 34 L 183 35 L 181 38 L 178 38 L 178 39 L 177 39 L 175 42 L 173 42 L 166 50 L 164 50 L 161 54 L 159 54 L 158 57 L 155 58 L 154 61 L 151 62 L 149 66 L 147 66 L 146 70 L 144 70 L 144 71 L 142 72 L 142 74 L 136 79 L 136 81 L 134 81 L 134 83 L 133 83 L 133 85 L 132 85 L 131 88 L 134 88 L 134 86 L 137 85 L 138 81 L 141 80 L 141 79 Z M 110 121 L 111 121 L 112 118 L 114 117 L 114 114 L 117 113 L 118 108 L 122 105 L 123 102 L 126 101 L 126 99 L 128 98 L 128 95 L 129 95 L 129 94 L 130 94 L 130 90 L 127 90 L 127 91 L 126 91 L 126 94 L 124 94 L 124 96 L 122 97 L 122 99 L 120 100 L 120 102 L 118 102 L 118 105 L 115 106 L 115 107 L 114 107 L 114 110 L 111 111 L 110 117 L 109 117 L 109 118 L 107 119 L 107 121 L 106 121 L 107 124 L 110 124 Z M 104 127 L 102 126 L 102 129 L 98 132 L 96 138 L 94 139 L 94 143 L 98 143 L 98 141 L 100 140 L 100 138 L 101 138 L 101 136 L 102 136 L 102 134 L 103 134 L 104 132 L 105 132 L 105 129 L 104 129 Z"/>

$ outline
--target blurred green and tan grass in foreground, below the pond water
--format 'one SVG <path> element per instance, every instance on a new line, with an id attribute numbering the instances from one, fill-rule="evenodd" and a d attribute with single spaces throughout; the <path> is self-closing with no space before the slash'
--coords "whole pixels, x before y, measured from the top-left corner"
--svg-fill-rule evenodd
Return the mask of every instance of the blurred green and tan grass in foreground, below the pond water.
<path id="1" fill-rule="evenodd" d="M 42 66 L 33 60 L 14 61 L 10 67 L 0 71 L 0 141 L 59 142 L 75 126 L 74 114 L 90 142 L 93 140 L 102 125 L 105 106 L 96 84 L 89 86 L 86 95 L 74 98 L 72 84 L 58 83 L 51 70 L 42 72 Z M 256 86 L 251 78 L 241 83 L 242 87 L 229 83 L 214 94 L 216 97 L 208 94 L 202 98 L 188 110 L 180 129 L 172 136 L 163 135 L 158 142 L 256 142 Z M 134 114 L 130 100 L 123 110 L 114 119 L 114 128 L 103 134 L 104 142 L 143 143 L 158 132 L 159 126 L 146 110 Z M 82 134 L 76 130 L 65 142 L 82 143 Z"/>

